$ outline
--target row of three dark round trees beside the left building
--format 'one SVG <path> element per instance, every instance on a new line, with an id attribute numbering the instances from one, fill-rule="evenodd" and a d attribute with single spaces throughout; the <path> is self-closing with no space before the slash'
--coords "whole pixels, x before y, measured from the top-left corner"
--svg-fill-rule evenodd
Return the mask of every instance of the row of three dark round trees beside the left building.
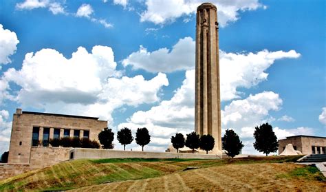
<path id="1" fill-rule="evenodd" d="M 98 134 L 98 140 L 100 140 L 100 144 L 103 149 L 113 149 L 113 139 L 114 133 L 111 129 L 105 128 Z M 123 145 L 124 151 L 126 150 L 126 145 L 131 144 L 133 141 L 133 136 L 131 134 L 131 129 L 124 127 L 120 129 L 117 133 L 118 142 Z M 135 133 L 135 142 L 142 147 L 142 151 L 144 151 L 144 146 L 151 142 L 151 136 L 149 135 L 149 130 L 146 127 L 138 128 Z"/>

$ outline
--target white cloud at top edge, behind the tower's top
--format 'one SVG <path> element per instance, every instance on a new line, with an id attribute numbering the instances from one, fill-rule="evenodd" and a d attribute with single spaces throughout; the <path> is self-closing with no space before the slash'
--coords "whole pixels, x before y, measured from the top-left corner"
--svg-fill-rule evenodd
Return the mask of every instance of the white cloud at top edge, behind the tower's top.
<path id="1" fill-rule="evenodd" d="M 164 24 L 175 21 L 179 17 L 196 13 L 202 0 L 146 0 L 146 10 L 140 15 L 140 21 Z M 211 1 L 217 6 L 218 21 L 222 27 L 239 19 L 239 12 L 265 8 L 258 0 L 248 1 Z"/>

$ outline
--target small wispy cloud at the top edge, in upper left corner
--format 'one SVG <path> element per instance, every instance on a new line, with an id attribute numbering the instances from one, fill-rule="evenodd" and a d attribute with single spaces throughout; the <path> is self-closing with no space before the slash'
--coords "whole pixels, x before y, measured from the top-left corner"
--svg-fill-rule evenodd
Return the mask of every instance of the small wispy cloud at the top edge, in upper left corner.
<path id="1" fill-rule="evenodd" d="M 18 10 L 33 10 L 36 8 L 49 8 L 53 14 L 65 14 L 65 8 L 53 0 L 25 0 L 22 3 L 17 3 Z"/>

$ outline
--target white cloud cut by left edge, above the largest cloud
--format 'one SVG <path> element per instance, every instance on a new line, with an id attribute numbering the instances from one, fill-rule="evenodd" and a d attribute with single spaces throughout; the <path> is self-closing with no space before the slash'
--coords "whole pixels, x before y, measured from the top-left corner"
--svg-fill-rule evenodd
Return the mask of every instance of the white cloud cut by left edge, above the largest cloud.
<path id="1" fill-rule="evenodd" d="M 10 30 L 5 30 L 3 25 L 0 24 L 0 64 L 11 63 L 9 56 L 16 52 L 18 43 L 19 40 L 17 39 L 16 33 L 11 32 Z"/>

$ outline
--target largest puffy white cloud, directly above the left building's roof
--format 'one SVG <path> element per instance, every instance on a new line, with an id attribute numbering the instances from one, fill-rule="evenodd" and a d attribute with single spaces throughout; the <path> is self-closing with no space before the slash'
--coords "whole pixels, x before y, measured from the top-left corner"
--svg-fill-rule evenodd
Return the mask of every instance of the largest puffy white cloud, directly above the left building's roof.
<path id="1" fill-rule="evenodd" d="M 12 82 L 21 89 L 14 100 L 23 106 L 67 114 L 100 116 L 111 120 L 111 112 L 123 105 L 155 103 L 166 74 L 146 80 L 143 76 L 121 76 L 111 47 L 84 47 L 65 58 L 52 49 L 28 53 L 21 70 L 10 68 L 1 78 L 5 91 Z M 0 83 L 1 85 L 1 83 Z"/>

